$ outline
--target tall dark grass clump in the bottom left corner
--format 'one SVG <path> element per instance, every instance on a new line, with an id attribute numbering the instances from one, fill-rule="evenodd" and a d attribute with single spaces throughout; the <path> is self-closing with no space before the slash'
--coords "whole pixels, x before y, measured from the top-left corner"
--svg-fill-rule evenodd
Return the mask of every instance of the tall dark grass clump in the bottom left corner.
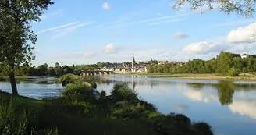
<path id="1" fill-rule="evenodd" d="M 35 129 L 37 119 L 33 118 L 32 110 L 26 110 L 20 113 L 19 106 L 9 102 L 0 103 L 0 134 L 2 135 L 58 135 L 58 130 Z"/>

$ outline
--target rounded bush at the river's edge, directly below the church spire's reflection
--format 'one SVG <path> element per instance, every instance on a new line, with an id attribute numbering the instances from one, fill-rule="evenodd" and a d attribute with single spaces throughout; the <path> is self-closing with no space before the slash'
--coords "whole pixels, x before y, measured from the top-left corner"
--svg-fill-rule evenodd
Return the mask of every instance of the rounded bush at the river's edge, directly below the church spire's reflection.
<path id="1" fill-rule="evenodd" d="M 126 83 L 117 83 L 111 91 L 111 94 L 116 101 L 138 101 L 137 93 L 132 91 Z"/>

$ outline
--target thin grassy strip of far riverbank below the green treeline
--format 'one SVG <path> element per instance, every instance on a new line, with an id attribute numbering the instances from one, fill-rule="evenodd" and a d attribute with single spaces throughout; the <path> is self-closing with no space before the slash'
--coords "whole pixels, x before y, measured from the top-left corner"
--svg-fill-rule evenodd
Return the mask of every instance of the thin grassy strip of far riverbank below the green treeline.
<path id="1" fill-rule="evenodd" d="M 147 77 L 166 77 L 179 79 L 195 80 L 251 80 L 256 81 L 256 76 L 249 73 L 243 73 L 239 76 L 219 76 L 215 73 L 117 73 L 126 76 L 147 76 Z"/>

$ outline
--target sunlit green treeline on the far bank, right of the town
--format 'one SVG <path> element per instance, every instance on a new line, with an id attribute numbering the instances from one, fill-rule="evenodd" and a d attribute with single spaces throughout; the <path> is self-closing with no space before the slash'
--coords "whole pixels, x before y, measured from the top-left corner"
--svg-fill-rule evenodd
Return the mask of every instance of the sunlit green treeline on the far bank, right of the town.
<path id="1" fill-rule="evenodd" d="M 151 64 L 148 73 L 218 73 L 222 76 L 237 76 L 240 73 L 254 73 L 256 71 L 255 55 L 242 58 L 239 54 L 220 52 L 210 60 L 193 59 L 183 65 Z"/>

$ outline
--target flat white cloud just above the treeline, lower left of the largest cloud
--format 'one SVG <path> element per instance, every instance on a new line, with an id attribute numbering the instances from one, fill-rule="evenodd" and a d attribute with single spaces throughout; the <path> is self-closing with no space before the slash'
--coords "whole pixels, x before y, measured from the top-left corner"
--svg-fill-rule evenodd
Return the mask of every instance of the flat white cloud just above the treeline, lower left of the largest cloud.
<path id="1" fill-rule="evenodd" d="M 188 44 L 183 48 L 183 52 L 190 54 L 206 54 L 209 52 L 220 52 L 224 46 L 214 41 L 199 41 L 192 44 Z"/>

